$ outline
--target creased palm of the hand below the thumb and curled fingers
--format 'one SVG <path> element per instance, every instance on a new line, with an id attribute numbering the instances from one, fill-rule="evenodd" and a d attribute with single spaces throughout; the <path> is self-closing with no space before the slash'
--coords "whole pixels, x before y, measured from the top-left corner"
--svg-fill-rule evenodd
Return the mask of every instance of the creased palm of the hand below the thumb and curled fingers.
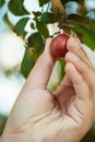
<path id="1" fill-rule="evenodd" d="M 79 128 L 85 125 L 85 117 L 78 107 L 74 90 L 67 79 L 64 84 L 57 97 L 40 88 L 26 90 L 23 97 L 20 96 L 11 114 L 11 125 L 21 135 L 23 132 L 26 135 L 29 133 L 29 140 L 27 138 L 25 141 L 74 142 L 76 131 L 80 141 L 83 133 Z"/>

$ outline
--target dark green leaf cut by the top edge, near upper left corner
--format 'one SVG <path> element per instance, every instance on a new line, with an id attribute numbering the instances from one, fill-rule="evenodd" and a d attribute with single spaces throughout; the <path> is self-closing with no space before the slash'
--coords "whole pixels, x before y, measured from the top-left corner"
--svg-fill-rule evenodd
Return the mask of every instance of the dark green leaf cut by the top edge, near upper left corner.
<path id="1" fill-rule="evenodd" d="M 14 14 L 14 15 L 26 15 L 28 12 L 25 10 L 23 5 L 24 0 L 11 0 L 9 2 L 9 10 Z"/>

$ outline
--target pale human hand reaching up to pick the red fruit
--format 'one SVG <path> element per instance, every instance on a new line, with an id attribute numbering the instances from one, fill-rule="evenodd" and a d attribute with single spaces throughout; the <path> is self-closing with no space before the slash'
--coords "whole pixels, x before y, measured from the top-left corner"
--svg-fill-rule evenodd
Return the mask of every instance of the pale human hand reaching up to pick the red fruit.
<path id="1" fill-rule="evenodd" d="M 67 43 L 66 75 L 57 91 L 47 90 L 56 60 L 51 39 L 28 75 L 0 142 L 80 142 L 95 114 L 95 72 L 75 38 Z"/>

